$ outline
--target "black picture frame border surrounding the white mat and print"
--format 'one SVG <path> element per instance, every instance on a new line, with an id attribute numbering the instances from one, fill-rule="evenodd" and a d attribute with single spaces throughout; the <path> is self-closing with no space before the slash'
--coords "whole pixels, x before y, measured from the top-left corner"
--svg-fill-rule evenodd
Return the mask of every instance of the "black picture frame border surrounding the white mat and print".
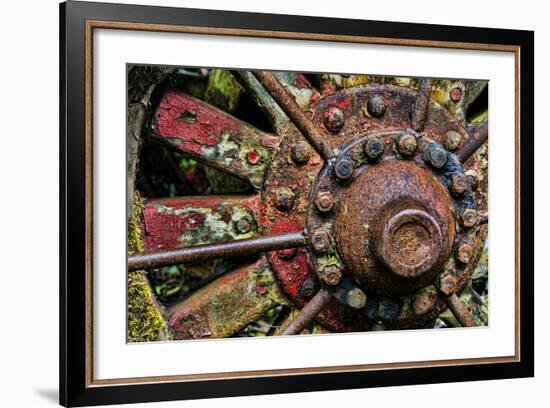
<path id="1" fill-rule="evenodd" d="M 519 359 L 337 373 L 103 384 L 87 372 L 86 22 L 91 20 L 223 29 L 483 43 L 518 49 L 521 211 L 518 245 Z M 339 390 L 534 376 L 534 33 L 532 31 L 256 14 L 69 1 L 60 5 L 60 403 L 121 404 Z"/>

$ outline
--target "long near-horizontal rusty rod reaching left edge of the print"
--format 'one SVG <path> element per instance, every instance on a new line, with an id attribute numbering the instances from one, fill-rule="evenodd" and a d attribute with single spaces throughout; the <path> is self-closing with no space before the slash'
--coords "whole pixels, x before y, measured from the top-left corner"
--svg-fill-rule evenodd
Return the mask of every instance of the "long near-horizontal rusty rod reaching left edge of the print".
<path id="1" fill-rule="evenodd" d="M 187 248 L 143 253 L 128 257 L 128 270 L 159 268 L 206 261 L 224 257 L 255 255 L 260 252 L 304 246 L 306 239 L 301 232 L 242 239 L 216 244 L 196 245 Z"/>

